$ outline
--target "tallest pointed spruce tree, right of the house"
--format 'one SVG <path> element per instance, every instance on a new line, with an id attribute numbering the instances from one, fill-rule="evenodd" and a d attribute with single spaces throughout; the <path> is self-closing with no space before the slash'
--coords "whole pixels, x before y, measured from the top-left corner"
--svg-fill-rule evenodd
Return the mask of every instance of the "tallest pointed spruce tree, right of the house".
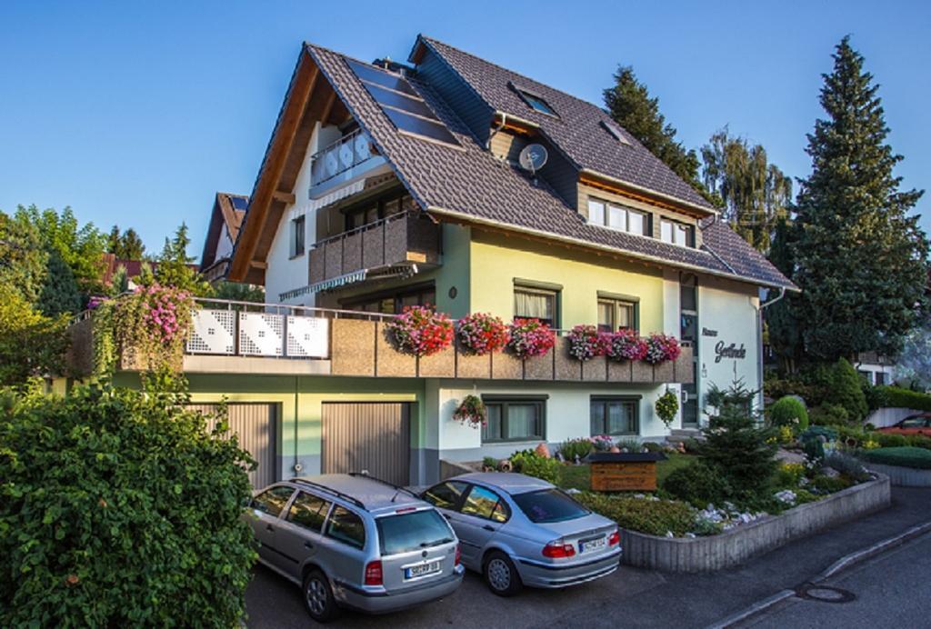
<path id="1" fill-rule="evenodd" d="M 817 359 L 894 355 L 924 298 L 927 241 L 908 216 L 922 192 L 899 191 L 902 157 L 886 143 L 878 87 L 848 37 L 833 59 L 820 95 L 828 116 L 808 135 L 813 169 L 797 200 L 795 316 Z"/>

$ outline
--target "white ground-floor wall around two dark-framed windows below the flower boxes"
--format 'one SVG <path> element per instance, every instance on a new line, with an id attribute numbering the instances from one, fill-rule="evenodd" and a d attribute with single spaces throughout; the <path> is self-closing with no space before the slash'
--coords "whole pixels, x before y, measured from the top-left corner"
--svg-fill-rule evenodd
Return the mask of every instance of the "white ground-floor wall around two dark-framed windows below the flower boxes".
<path id="1" fill-rule="evenodd" d="M 519 441 L 482 445 L 481 431 L 452 419 L 459 402 L 466 395 L 548 395 L 546 399 L 546 442 L 558 446 L 566 439 L 591 436 L 589 401 L 592 395 L 642 395 L 640 401 L 640 432 L 631 438 L 659 440 L 668 434 L 656 417 L 656 398 L 665 387 L 611 386 L 591 384 L 493 382 L 475 388 L 469 381 L 428 381 L 426 422 L 431 431 L 426 448 L 437 448 L 439 458 L 448 461 L 480 461 L 484 456 L 504 458 L 524 448 L 535 448 L 540 442 Z M 678 422 L 672 427 L 678 427 Z M 435 431 L 432 432 L 432 431 Z M 434 436 L 435 435 L 435 436 Z"/>

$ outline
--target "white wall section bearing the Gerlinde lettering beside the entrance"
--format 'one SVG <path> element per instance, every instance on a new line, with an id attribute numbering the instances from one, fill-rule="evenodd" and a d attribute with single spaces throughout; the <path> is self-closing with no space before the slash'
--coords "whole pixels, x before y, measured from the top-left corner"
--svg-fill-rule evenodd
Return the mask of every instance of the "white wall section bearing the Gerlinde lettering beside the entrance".
<path id="1" fill-rule="evenodd" d="M 742 380 L 749 390 L 762 386 L 760 381 L 760 337 L 757 290 L 744 284 L 710 277 L 698 278 L 698 381 L 699 405 L 711 384 L 727 388 Z M 711 336 L 710 332 L 717 332 Z M 721 355 L 720 348 L 744 349 L 742 357 Z"/>

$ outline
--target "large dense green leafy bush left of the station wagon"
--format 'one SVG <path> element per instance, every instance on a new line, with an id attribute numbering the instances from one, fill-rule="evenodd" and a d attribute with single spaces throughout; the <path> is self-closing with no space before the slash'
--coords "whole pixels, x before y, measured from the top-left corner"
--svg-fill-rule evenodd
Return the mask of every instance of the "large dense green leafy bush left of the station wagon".
<path id="1" fill-rule="evenodd" d="M 109 386 L 0 405 L 0 626 L 230 627 L 253 465 L 186 398 Z"/>

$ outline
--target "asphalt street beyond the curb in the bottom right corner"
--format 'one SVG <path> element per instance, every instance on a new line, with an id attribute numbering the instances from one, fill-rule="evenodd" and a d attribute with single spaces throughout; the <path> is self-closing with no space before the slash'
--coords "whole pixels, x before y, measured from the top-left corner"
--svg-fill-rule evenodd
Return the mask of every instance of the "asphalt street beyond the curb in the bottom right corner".
<path id="1" fill-rule="evenodd" d="M 829 603 L 793 596 L 741 626 L 757 629 L 931 626 L 931 533 L 817 585 L 841 588 L 854 598 Z"/>

